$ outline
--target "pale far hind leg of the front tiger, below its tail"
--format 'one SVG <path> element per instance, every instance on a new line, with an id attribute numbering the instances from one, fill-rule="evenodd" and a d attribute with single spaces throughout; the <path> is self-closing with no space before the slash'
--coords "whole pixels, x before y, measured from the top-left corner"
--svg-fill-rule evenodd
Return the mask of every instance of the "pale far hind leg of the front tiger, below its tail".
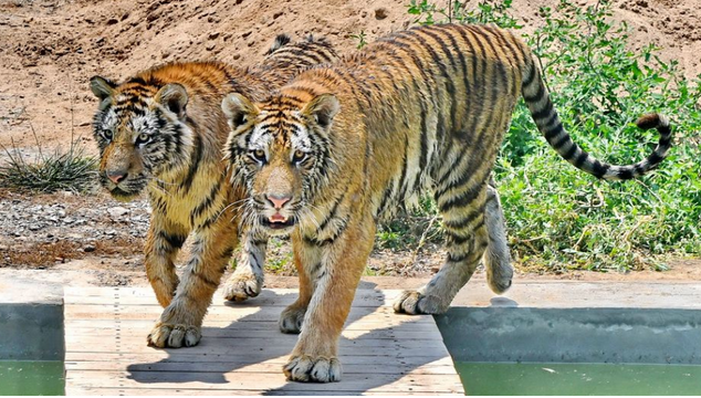
<path id="1" fill-rule="evenodd" d="M 492 292 L 503 294 L 511 287 L 513 268 L 509 254 L 504 211 L 493 179 L 490 180 L 486 187 L 484 223 L 489 233 L 489 245 L 483 258 L 484 269 L 486 270 L 486 283 Z"/>

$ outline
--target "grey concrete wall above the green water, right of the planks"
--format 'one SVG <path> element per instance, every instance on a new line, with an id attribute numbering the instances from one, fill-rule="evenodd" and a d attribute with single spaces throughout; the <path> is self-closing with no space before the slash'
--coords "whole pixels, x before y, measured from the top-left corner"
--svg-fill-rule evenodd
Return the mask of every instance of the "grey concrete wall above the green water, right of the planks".
<path id="1" fill-rule="evenodd" d="M 465 362 L 701 364 L 701 311 L 452 307 L 436 316 Z"/>

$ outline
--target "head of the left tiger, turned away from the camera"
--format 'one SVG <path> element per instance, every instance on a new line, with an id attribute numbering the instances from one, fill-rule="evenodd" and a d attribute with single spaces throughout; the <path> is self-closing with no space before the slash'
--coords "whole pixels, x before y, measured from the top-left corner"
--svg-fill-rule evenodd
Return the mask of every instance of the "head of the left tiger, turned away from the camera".
<path id="1" fill-rule="evenodd" d="M 187 167 L 192 132 L 186 124 L 188 94 L 177 83 L 161 87 L 133 78 L 116 85 L 95 76 L 100 100 L 93 133 L 100 146 L 100 182 L 118 200 L 130 200 L 149 182 Z"/>

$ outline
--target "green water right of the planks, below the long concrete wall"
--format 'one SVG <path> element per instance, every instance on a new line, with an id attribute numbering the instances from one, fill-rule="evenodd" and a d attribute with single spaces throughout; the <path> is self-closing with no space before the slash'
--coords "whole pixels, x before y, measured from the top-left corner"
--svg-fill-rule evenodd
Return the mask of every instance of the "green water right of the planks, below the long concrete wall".
<path id="1" fill-rule="evenodd" d="M 456 363 L 465 394 L 701 395 L 701 366 Z"/>

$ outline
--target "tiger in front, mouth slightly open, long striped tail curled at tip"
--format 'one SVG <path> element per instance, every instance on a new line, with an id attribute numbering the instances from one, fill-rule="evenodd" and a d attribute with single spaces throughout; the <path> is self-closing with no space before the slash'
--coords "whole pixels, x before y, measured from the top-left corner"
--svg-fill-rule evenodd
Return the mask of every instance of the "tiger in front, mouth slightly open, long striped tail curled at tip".
<path id="1" fill-rule="evenodd" d="M 244 239 L 293 242 L 300 295 L 280 325 L 285 332 L 302 324 L 283 366 L 289 380 L 341 379 L 338 337 L 376 226 L 429 191 L 442 216 L 447 258 L 394 310 L 447 311 L 492 250 L 489 180 L 521 97 L 555 151 L 599 179 L 641 176 L 671 147 L 669 121 L 648 114 L 638 126 L 660 137 L 646 159 L 614 166 L 588 155 L 564 129 L 527 45 L 489 25 L 395 32 L 305 71 L 263 102 L 236 92 L 224 97 L 230 184 L 248 191 Z"/>

